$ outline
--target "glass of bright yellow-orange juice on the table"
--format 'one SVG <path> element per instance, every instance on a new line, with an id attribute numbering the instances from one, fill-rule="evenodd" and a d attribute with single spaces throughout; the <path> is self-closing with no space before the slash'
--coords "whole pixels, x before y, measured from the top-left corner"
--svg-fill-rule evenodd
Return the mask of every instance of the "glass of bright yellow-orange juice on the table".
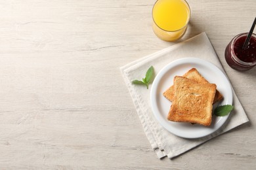
<path id="1" fill-rule="evenodd" d="M 152 10 L 153 31 L 163 41 L 182 37 L 190 20 L 190 7 L 185 0 L 158 0 Z"/>

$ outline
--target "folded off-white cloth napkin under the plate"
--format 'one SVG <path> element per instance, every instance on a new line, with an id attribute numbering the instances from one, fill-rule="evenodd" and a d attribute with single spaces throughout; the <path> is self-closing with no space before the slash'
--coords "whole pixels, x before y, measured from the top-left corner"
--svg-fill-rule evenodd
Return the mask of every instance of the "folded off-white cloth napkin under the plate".
<path id="1" fill-rule="evenodd" d="M 154 72 L 157 74 L 167 63 L 175 59 L 190 57 L 205 59 L 215 64 L 224 73 L 219 58 L 205 33 L 200 33 L 191 39 L 160 50 L 137 61 L 133 61 L 120 68 L 125 84 L 127 84 L 129 92 L 131 93 L 146 137 L 152 148 L 156 151 L 158 158 L 165 156 L 174 158 L 175 156 L 179 156 L 179 154 L 249 121 L 236 93 L 232 90 L 234 110 L 230 113 L 226 124 L 211 135 L 199 139 L 185 139 L 173 135 L 160 125 L 154 117 L 150 105 L 151 86 L 149 86 L 149 89 L 146 89 L 146 86 L 137 86 L 131 84 L 131 81 L 139 77 L 144 77 L 146 70 L 151 65 L 153 65 Z"/>

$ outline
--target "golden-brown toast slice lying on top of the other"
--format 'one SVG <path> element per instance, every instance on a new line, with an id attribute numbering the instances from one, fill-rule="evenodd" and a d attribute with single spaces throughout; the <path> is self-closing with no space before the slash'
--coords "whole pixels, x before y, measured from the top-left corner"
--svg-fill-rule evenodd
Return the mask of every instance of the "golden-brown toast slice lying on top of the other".
<path id="1" fill-rule="evenodd" d="M 183 76 L 175 76 L 174 88 L 167 119 L 210 126 L 216 84 L 198 84 Z"/>

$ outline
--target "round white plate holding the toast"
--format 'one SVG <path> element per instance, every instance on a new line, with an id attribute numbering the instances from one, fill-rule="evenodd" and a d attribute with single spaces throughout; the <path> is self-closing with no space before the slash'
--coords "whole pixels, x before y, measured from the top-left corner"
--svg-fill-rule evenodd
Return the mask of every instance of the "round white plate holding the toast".
<path id="1" fill-rule="evenodd" d="M 211 126 L 209 127 L 167 120 L 171 102 L 163 97 L 163 92 L 165 92 L 169 86 L 173 85 L 174 76 L 182 76 L 193 67 L 196 68 L 208 82 L 216 84 L 217 90 L 223 94 L 224 99 L 213 105 L 213 110 L 217 105 L 232 105 L 232 88 L 228 78 L 226 78 L 224 73 L 213 65 L 213 63 L 199 58 L 177 59 L 163 67 L 158 75 L 156 75 L 150 93 L 152 111 L 161 126 L 165 127 L 165 129 L 174 135 L 190 139 L 205 137 L 217 131 L 219 127 L 223 126 L 229 115 L 213 115 Z"/>

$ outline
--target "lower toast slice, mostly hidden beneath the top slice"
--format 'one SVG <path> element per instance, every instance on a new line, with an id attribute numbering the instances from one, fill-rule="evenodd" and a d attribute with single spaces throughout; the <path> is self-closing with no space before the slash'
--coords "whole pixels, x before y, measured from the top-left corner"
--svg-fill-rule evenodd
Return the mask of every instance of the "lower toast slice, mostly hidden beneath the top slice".
<path id="1" fill-rule="evenodd" d="M 202 83 L 202 84 L 209 83 L 207 80 L 205 80 L 205 78 L 203 78 L 202 75 L 200 75 L 198 70 L 195 68 L 190 69 L 183 76 L 191 80 L 194 80 L 195 82 L 198 82 L 198 83 Z M 169 87 L 167 90 L 165 90 L 165 92 L 163 92 L 163 96 L 167 98 L 169 101 L 173 100 L 173 95 L 174 95 L 174 86 Z M 221 101 L 221 99 L 223 99 L 223 95 L 217 90 L 213 103 L 216 103 L 217 101 Z"/>

